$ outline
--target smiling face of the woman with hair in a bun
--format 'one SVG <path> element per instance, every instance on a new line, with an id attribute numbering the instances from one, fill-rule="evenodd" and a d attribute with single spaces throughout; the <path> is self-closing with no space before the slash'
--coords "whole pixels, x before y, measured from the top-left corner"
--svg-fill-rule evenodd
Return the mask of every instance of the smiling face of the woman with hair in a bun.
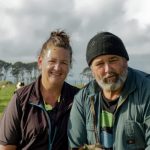
<path id="1" fill-rule="evenodd" d="M 61 47 L 53 47 L 38 58 L 38 66 L 45 85 L 63 84 L 70 68 L 70 52 Z"/>

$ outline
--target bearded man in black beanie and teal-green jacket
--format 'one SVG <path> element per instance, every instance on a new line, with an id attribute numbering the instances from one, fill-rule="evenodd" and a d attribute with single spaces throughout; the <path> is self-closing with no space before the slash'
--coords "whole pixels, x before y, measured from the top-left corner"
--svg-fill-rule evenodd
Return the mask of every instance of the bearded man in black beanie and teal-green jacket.
<path id="1" fill-rule="evenodd" d="M 123 42 L 109 32 L 90 40 L 86 59 L 95 80 L 75 96 L 68 125 L 70 148 L 150 149 L 149 75 L 128 67 Z"/>

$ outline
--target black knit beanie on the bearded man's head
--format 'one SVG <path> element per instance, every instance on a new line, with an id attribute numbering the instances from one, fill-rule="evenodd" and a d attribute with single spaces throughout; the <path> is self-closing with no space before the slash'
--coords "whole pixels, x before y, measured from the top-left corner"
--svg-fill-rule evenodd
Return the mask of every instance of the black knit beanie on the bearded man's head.
<path id="1" fill-rule="evenodd" d="M 119 37 L 109 32 L 101 32 L 95 35 L 88 43 L 86 60 L 88 65 L 94 58 L 100 55 L 118 55 L 129 60 L 126 48 Z"/>

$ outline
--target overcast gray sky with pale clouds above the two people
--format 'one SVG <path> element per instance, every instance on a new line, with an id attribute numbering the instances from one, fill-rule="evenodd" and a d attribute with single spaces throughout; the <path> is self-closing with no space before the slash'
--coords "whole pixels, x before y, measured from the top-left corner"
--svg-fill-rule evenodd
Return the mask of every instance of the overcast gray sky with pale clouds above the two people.
<path id="1" fill-rule="evenodd" d="M 87 43 L 101 31 L 118 35 L 129 64 L 150 73 L 149 0 L 0 0 L 0 59 L 36 61 L 43 42 L 56 29 L 71 37 L 73 74 L 87 66 Z"/>

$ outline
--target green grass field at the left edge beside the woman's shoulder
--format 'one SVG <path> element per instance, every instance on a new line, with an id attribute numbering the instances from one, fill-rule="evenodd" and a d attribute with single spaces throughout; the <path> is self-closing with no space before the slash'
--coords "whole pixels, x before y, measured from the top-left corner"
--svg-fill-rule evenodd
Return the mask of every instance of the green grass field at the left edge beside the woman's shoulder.
<path id="1" fill-rule="evenodd" d="M 8 102 L 10 101 L 13 93 L 15 90 L 15 85 L 8 84 L 5 85 L 5 87 L 0 86 L 0 117 L 8 105 Z"/>

